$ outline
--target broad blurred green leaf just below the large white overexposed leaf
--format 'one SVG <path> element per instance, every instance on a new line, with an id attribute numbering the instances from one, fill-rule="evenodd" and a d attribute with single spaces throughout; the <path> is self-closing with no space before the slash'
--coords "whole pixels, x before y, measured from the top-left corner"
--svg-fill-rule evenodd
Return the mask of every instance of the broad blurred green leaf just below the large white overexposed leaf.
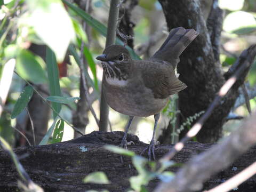
<path id="1" fill-rule="evenodd" d="M 16 69 L 18 74 L 35 84 L 46 83 L 45 71 L 41 67 L 38 57 L 27 50 L 21 50 L 17 57 Z"/>

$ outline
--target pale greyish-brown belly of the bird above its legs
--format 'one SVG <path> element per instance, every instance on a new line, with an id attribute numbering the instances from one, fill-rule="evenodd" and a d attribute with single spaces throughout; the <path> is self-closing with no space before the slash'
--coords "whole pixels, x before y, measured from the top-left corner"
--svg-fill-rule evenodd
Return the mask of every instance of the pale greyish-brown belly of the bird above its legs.
<path id="1" fill-rule="evenodd" d="M 168 98 L 156 99 L 145 86 L 113 86 L 103 84 L 108 105 L 119 113 L 147 117 L 155 115 L 167 104 Z"/>

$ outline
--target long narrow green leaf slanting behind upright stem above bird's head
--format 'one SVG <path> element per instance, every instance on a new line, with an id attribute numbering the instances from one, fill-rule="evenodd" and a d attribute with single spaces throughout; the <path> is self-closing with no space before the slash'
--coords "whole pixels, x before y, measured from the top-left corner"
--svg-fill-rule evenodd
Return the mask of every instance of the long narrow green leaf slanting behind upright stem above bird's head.
<path id="1" fill-rule="evenodd" d="M 94 19 L 90 14 L 84 12 L 79 7 L 67 2 L 66 0 L 62 0 L 71 10 L 73 10 L 76 14 L 78 14 L 83 20 L 85 20 L 90 26 L 92 26 L 95 30 L 97 30 L 101 35 L 107 36 L 107 27 L 103 25 L 98 20 Z M 116 44 L 123 45 L 124 43 L 121 39 L 116 38 Z M 130 52 L 131 57 L 133 59 L 140 59 L 140 57 L 131 49 L 131 47 L 126 46 L 126 49 Z"/>

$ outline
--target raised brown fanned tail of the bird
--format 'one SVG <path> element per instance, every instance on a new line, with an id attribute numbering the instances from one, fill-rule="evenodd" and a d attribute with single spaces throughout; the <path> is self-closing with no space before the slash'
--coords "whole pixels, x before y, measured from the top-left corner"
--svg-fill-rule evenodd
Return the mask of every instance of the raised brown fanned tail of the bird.
<path id="1" fill-rule="evenodd" d="M 197 35 L 197 31 L 194 29 L 185 29 L 183 27 L 172 29 L 163 45 L 150 59 L 168 61 L 175 67 L 179 62 L 180 54 Z"/>

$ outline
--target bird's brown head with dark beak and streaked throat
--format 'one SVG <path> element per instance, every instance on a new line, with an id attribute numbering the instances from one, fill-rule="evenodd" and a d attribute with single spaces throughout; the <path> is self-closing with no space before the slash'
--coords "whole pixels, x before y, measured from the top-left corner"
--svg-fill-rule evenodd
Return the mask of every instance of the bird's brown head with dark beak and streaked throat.
<path id="1" fill-rule="evenodd" d="M 102 61 L 102 67 L 107 78 L 119 80 L 128 78 L 132 59 L 124 46 L 110 45 L 96 59 Z"/>

